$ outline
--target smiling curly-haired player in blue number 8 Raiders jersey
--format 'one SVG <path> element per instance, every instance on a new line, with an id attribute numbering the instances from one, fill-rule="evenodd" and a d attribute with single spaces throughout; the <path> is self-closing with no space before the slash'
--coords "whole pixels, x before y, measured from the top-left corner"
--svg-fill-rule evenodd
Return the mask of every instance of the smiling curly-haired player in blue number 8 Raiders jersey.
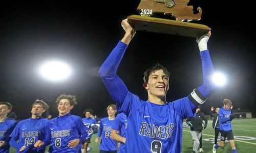
<path id="1" fill-rule="evenodd" d="M 74 95 L 61 94 L 56 99 L 59 116 L 50 120 L 51 146 L 49 152 L 81 152 L 87 130 L 81 117 L 71 115 L 77 104 Z"/>

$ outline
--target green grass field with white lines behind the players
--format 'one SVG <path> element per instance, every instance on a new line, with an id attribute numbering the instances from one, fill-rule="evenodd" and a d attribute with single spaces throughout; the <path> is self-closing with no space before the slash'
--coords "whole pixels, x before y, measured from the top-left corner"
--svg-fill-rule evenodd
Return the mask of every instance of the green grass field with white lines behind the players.
<path id="1" fill-rule="evenodd" d="M 203 131 L 203 150 L 204 152 L 212 152 L 212 146 L 214 144 L 214 129 L 212 129 L 211 120 L 208 126 Z M 185 122 L 183 123 L 185 124 Z M 256 152 L 256 118 L 253 119 L 234 119 L 232 121 L 233 134 L 235 136 L 235 144 L 238 152 Z M 91 153 L 99 152 L 99 143 L 95 143 L 96 135 L 93 135 L 91 139 L 90 147 Z M 251 140 L 253 139 L 253 140 Z M 192 137 L 189 133 L 189 127 L 183 129 L 182 138 L 182 152 L 192 152 L 193 144 Z M 11 153 L 16 152 L 14 148 L 11 148 Z M 47 151 L 46 151 L 47 152 Z M 218 148 L 217 152 L 227 153 L 231 152 L 230 144 L 225 143 L 224 148 Z M 143 153 L 143 152 L 141 152 Z"/>

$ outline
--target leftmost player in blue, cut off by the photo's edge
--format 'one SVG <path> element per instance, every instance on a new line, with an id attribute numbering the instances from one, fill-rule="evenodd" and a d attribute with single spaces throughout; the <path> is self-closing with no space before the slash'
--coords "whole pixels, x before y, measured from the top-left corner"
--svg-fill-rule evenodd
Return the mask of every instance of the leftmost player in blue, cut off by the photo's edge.
<path id="1" fill-rule="evenodd" d="M 10 150 L 10 134 L 17 122 L 7 119 L 8 113 L 12 110 L 12 105 L 8 102 L 0 102 L 0 152 L 8 153 Z"/>

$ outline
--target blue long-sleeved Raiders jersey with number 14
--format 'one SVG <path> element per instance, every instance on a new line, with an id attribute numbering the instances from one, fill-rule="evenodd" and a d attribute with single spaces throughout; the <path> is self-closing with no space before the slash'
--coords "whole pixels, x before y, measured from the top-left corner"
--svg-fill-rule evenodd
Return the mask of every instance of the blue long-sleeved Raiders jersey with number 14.
<path id="1" fill-rule="evenodd" d="M 46 118 L 28 118 L 20 121 L 10 135 L 10 145 L 16 148 L 16 152 L 23 146 L 26 146 L 22 152 L 45 152 L 46 145 L 50 142 L 50 131 L 48 119 Z M 16 142 L 18 140 L 18 142 Z M 43 141 L 42 147 L 34 147 L 37 140 Z"/>

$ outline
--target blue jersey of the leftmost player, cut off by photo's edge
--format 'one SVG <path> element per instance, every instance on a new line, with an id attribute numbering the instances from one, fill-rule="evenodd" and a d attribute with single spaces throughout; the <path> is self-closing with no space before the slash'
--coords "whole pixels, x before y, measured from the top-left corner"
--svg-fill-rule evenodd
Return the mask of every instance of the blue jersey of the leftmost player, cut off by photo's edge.
<path id="1" fill-rule="evenodd" d="M 10 150 L 9 141 L 11 139 L 10 134 L 12 133 L 17 122 L 15 120 L 5 119 L 4 122 L 0 123 L 0 141 L 5 141 L 6 145 L 0 147 L 0 153 L 8 153 Z"/>

